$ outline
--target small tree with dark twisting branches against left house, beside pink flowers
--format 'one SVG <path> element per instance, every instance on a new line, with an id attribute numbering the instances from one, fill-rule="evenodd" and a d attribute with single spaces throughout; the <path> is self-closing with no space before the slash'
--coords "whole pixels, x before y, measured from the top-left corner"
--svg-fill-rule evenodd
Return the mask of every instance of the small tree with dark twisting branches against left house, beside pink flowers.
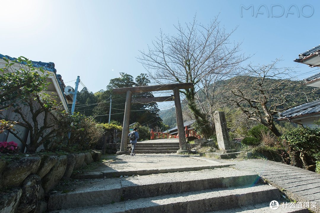
<path id="1" fill-rule="evenodd" d="M 24 98 L 23 105 L 10 109 L 19 125 L 28 129 L 30 143 L 26 143 L 19 131 L 8 131 L 26 146 L 27 152 L 36 152 L 44 142 L 68 132 L 71 121 L 55 98 L 47 93 L 32 94 Z"/>

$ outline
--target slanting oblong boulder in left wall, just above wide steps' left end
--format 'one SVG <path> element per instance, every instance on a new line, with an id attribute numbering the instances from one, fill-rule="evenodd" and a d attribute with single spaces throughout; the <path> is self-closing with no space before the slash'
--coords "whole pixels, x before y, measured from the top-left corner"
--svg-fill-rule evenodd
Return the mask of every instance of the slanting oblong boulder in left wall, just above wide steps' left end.
<path id="1" fill-rule="evenodd" d="M 58 184 L 66 171 L 67 163 L 67 156 L 60 156 L 52 169 L 43 177 L 42 187 L 45 193 L 49 192 Z"/>

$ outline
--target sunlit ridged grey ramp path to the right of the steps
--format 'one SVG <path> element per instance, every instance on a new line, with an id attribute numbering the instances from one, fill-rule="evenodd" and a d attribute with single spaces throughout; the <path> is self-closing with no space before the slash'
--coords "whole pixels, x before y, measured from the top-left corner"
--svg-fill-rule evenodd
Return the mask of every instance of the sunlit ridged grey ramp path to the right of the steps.
<path id="1" fill-rule="evenodd" d="M 320 174 L 279 162 L 250 160 L 218 160 L 233 163 L 238 170 L 257 172 L 268 183 L 279 188 L 289 198 L 297 202 L 309 202 L 314 212 L 320 212 Z"/>

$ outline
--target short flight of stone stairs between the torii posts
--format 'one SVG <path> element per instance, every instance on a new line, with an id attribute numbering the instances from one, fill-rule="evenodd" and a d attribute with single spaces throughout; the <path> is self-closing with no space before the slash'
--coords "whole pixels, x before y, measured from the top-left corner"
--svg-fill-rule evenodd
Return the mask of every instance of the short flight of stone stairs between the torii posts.
<path id="1" fill-rule="evenodd" d="M 160 139 L 161 140 L 161 139 Z M 157 142 L 152 143 L 152 141 L 149 142 L 138 142 L 137 146 L 134 150 L 135 153 L 143 153 L 143 154 L 166 154 L 166 153 L 176 153 L 180 149 L 179 147 L 179 141 L 177 142 Z M 131 151 L 131 144 L 128 146 L 128 151 Z"/>

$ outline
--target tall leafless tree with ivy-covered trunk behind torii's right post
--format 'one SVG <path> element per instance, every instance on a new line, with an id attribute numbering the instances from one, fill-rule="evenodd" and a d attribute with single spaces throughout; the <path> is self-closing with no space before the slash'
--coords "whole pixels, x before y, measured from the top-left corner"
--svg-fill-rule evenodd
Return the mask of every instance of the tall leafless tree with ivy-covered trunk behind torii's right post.
<path id="1" fill-rule="evenodd" d="M 160 32 L 148 51 L 140 51 L 138 60 L 148 70 L 156 83 L 192 82 L 193 89 L 180 92 L 197 123 L 197 130 L 204 136 L 212 135 L 214 122 L 211 116 L 209 88 L 217 80 L 232 76 L 244 61 L 239 54 L 241 43 L 231 43 L 230 36 L 235 31 L 226 32 L 220 27 L 218 17 L 204 26 L 197 24 L 196 17 L 185 27 L 178 23 L 177 34 L 169 36 Z M 198 92 L 203 92 L 200 97 Z"/>

